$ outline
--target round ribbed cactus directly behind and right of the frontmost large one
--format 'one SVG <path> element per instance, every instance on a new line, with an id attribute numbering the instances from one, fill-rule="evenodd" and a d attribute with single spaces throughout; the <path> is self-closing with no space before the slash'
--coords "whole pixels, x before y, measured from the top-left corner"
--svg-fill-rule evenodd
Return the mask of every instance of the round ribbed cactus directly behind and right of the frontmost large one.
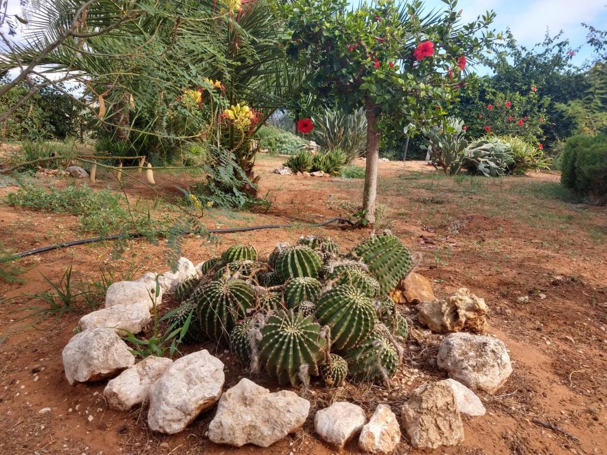
<path id="1" fill-rule="evenodd" d="M 316 317 L 331 329 L 331 349 L 349 349 L 362 342 L 375 326 L 371 299 L 350 285 L 336 286 L 321 295 Z"/>

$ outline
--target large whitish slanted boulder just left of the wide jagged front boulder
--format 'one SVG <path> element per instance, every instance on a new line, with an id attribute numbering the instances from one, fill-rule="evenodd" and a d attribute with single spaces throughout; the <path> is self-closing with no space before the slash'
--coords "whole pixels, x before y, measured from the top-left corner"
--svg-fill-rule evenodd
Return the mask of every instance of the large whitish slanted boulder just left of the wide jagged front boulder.
<path id="1" fill-rule="evenodd" d="M 219 400 L 224 380 L 222 361 L 206 349 L 175 360 L 149 389 L 149 427 L 179 433 Z"/>

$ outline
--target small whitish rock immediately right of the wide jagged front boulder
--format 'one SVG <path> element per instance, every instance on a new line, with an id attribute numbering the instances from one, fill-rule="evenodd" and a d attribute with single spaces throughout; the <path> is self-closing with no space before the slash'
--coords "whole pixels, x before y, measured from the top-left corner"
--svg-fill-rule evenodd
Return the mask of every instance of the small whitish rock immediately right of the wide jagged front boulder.
<path id="1" fill-rule="evenodd" d="M 361 406 L 338 401 L 316 412 L 314 431 L 322 440 L 341 450 L 350 439 L 360 433 L 365 422 L 367 415 Z"/>

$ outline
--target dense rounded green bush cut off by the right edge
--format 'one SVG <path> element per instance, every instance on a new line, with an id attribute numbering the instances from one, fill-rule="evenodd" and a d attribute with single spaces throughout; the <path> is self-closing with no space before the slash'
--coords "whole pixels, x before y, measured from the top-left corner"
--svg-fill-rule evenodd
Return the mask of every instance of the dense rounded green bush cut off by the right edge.
<path id="1" fill-rule="evenodd" d="M 607 203 L 607 135 L 578 134 L 567 140 L 561 183 L 593 201 Z"/>

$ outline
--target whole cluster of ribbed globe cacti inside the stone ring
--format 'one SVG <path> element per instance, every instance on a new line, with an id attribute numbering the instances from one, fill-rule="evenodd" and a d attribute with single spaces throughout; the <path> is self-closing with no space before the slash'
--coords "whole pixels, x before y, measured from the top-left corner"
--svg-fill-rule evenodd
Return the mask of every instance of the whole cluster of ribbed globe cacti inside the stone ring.
<path id="1" fill-rule="evenodd" d="M 175 323 L 190 318 L 188 340 L 229 345 L 243 365 L 263 367 L 280 383 L 328 387 L 344 380 L 386 382 L 400 363 L 407 320 L 387 292 L 412 266 L 391 234 L 348 254 L 326 237 L 277 244 L 263 259 L 234 245 L 199 268 L 175 292 Z M 392 287 L 391 287 L 392 286 Z"/>

